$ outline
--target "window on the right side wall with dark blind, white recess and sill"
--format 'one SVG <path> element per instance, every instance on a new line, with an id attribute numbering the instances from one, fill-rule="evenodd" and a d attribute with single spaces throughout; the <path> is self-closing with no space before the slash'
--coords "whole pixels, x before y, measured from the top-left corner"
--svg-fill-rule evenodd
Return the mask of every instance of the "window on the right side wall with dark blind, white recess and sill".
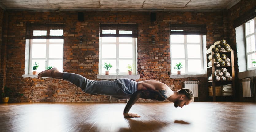
<path id="1" fill-rule="evenodd" d="M 255 7 L 239 15 L 233 21 L 237 50 L 237 65 L 239 79 L 254 77 L 255 70 L 252 59 L 255 59 Z"/>

